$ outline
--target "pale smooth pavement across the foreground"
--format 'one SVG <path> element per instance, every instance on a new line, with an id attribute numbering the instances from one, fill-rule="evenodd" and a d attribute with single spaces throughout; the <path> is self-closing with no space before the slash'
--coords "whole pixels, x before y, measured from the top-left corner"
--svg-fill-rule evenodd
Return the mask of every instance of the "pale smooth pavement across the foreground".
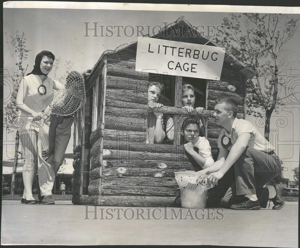
<path id="1" fill-rule="evenodd" d="M 276 211 L 271 207 L 189 210 L 3 201 L 1 244 L 298 247 L 298 202 Z"/>

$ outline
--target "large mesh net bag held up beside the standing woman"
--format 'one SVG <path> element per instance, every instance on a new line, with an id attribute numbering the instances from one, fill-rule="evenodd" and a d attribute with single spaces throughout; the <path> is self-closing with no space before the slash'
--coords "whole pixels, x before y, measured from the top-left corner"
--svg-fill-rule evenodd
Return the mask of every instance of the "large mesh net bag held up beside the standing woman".
<path id="1" fill-rule="evenodd" d="M 81 73 L 72 71 L 67 75 L 64 87 L 54 97 L 51 114 L 71 115 L 85 104 L 84 78 Z"/>

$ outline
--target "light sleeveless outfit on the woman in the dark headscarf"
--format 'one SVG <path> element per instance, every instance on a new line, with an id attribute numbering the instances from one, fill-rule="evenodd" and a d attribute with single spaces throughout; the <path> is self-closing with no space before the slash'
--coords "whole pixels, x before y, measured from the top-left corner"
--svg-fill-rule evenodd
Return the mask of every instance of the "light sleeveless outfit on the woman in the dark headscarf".
<path id="1" fill-rule="evenodd" d="M 53 100 L 53 79 L 46 77 L 43 84 L 46 87 L 46 94 L 40 95 L 38 93 L 38 87 L 42 84 L 42 80 L 38 75 L 30 74 L 24 77 L 28 84 L 27 92 L 24 92 L 24 104 L 35 112 L 41 112 L 49 106 Z M 33 117 L 22 111 L 19 111 L 17 120 L 18 130 L 20 135 L 22 132 L 36 130 L 39 131 L 41 125 L 44 123 L 41 121 L 33 121 Z"/>

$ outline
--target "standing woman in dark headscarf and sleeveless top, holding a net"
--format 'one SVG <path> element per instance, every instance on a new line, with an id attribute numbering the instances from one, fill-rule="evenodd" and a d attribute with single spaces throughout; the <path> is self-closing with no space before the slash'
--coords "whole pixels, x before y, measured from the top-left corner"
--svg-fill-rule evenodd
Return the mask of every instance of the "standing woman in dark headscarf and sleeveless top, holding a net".
<path id="1" fill-rule="evenodd" d="M 38 132 L 43 125 L 43 116 L 46 108 L 53 100 L 53 89 L 59 90 L 62 85 L 47 75 L 52 70 L 55 57 L 52 52 L 42 51 L 35 58 L 32 72 L 20 81 L 16 96 L 16 105 L 19 109 L 20 140 L 24 151 L 23 182 L 24 193 L 22 203 L 36 204 L 32 196 L 32 183 L 37 173 L 37 140 Z"/>

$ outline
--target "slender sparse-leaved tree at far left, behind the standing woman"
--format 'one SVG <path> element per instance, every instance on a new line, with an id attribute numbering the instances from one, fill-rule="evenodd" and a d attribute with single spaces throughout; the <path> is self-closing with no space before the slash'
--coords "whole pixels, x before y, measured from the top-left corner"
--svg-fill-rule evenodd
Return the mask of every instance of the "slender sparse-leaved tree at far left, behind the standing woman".
<path id="1" fill-rule="evenodd" d="M 16 96 L 18 93 L 19 85 L 21 79 L 24 77 L 26 73 L 26 69 L 28 68 L 28 64 L 25 65 L 25 60 L 27 59 L 28 52 L 30 50 L 26 49 L 26 38 L 24 32 L 19 34 L 18 31 L 9 35 L 9 38 L 6 35 L 7 46 L 10 52 L 10 56 L 15 61 L 15 65 L 17 66 L 17 73 L 15 77 L 12 77 L 13 82 L 13 91 L 11 92 L 10 103 L 4 108 L 4 126 L 6 127 L 7 133 L 12 132 L 10 129 L 10 125 L 13 123 L 15 118 L 18 115 L 18 108 L 16 106 Z M 14 189 L 16 183 L 16 168 L 18 164 L 18 150 L 19 150 L 19 131 L 16 131 L 16 144 L 15 144 L 15 155 L 13 162 L 13 173 L 11 178 L 11 190 L 10 195 L 14 196 Z"/>

